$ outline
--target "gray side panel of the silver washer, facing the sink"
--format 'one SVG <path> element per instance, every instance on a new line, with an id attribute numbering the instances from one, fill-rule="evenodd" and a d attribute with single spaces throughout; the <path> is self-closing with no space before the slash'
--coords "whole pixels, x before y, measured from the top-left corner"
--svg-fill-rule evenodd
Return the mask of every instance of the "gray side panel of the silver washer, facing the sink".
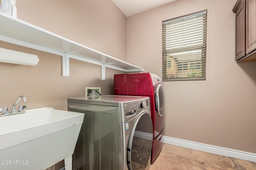
<path id="1" fill-rule="evenodd" d="M 68 102 L 68 111 L 85 114 L 73 154 L 73 169 L 118 170 L 119 108 Z"/>

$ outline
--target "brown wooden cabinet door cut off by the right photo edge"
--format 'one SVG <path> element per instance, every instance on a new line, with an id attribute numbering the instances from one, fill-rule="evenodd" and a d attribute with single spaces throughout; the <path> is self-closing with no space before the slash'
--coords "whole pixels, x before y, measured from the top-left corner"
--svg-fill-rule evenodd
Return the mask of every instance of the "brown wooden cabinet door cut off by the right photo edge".
<path id="1" fill-rule="evenodd" d="M 246 0 L 246 54 L 256 49 L 256 0 Z"/>

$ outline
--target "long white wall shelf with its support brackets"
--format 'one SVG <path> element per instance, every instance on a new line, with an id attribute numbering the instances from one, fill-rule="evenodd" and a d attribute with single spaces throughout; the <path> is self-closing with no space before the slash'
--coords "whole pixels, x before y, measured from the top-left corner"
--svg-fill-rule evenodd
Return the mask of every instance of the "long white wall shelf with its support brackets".
<path id="1" fill-rule="evenodd" d="M 102 80 L 105 80 L 105 67 L 124 72 L 143 71 L 143 68 L 126 63 L 2 12 L 0 12 L 0 23 L 0 41 L 61 55 L 62 76 L 69 76 L 70 58 L 100 65 Z"/>

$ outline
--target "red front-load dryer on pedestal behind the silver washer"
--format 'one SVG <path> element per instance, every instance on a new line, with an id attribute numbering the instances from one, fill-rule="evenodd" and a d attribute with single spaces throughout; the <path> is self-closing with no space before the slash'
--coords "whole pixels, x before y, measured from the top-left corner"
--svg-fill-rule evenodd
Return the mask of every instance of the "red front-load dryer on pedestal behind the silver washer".
<path id="1" fill-rule="evenodd" d="M 153 163 L 162 149 L 160 140 L 164 129 L 164 90 L 160 76 L 152 73 L 115 74 L 114 95 L 150 98 L 154 131 L 150 162 Z"/>

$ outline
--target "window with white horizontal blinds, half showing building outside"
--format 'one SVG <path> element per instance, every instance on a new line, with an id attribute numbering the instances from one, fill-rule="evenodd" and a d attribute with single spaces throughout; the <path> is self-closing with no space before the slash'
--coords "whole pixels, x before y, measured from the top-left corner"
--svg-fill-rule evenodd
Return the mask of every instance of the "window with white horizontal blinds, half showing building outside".
<path id="1" fill-rule="evenodd" d="M 180 24 L 180 25 L 182 25 L 181 26 L 182 29 L 179 28 L 178 31 L 182 30 L 182 32 L 183 32 L 183 29 L 184 29 L 183 25 L 185 25 L 184 21 L 193 20 L 193 18 L 196 18 L 196 17 L 198 18 L 201 16 L 204 17 L 203 21 L 202 21 L 203 32 L 202 32 L 202 35 L 200 34 L 200 36 L 202 36 L 202 38 L 200 38 L 200 39 L 202 39 L 202 43 L 198 43 L 199 42 L 198 37 L 197 37 L 197 39 L 192 37 L 195 40 L 197 40 L 197 45 L 194 45 L 194 47 L 193 47 L 192 44 L 188 43 L 188 45 L 191 45 L 191 49 L 190 49 L 190 48 L 183 47 L 183 46 L 186 46 L 186 45 L 184 45 L 186 43 L 183 44 L 184 38 L 183 39 L 179 38 L 179 39 L 177 39 L 177 42 L 178 43 L 182 42 L 182 47 L 176 48 L 173 45 L 171 47 L 174 50 L 172 50 L 172 48 L 169 48 L 167 50 L 167 43 L 168 43 L 167 42 L 167 32 L 168 31 L 166 31 L 167 29 L 164 28 L 165 24 L 168 25 L 168 24 L 180 22 L 180 23 L 182 23 L 182 24 Z M 196 26 L 196 27 L 199 27 L 199 26 Z M 173 29 L 174 26 L 170 27 L 170 28 Z M 197 32 L 198 32 L 198 30 L 199 29 L 197 29 Z M 189 27 L 189 31 L 191 31 L 191 27 Z M 169 35 L 170 36 L 174 35 L 174 33 L 169 34 Z M 183 33 L 181 35 L 182 35 L 182 37 L 184 37 Z M 198 35 L 199 35 L 199 33 L 198 33 Z M 192 40 L 194 40 L 194 39 L 192 39 Z M 188 14 L 185 16 L 176 17 L 176 18 L 173 18 L 170 20 L 162 21 L 162 79 L 163 79 L 163 81 L 206 80 L 206 46 L 207 46 L 206 41 L 207 41 L 207 10 L 203 10 L 200 12 L 195 12 L 195 13 Z M 170 44 L 172 44 L 172 43 L 170 43 Z M 173 43 L 173 44 L 175 44 L 175 43 Z M 199 44 L 202 44 L 202 45 L 199 45 Z M 179 44 L 176 46 L 179 46 Z M 178 51 L 178 52 L 176 52 L 176 51 Z M 172 56 L 172 54 L 174 54 L 175 52 L 177 53 L 178 57 Z M 195 70 L 195 68 L 196 68 L 196 70 Z"/>

